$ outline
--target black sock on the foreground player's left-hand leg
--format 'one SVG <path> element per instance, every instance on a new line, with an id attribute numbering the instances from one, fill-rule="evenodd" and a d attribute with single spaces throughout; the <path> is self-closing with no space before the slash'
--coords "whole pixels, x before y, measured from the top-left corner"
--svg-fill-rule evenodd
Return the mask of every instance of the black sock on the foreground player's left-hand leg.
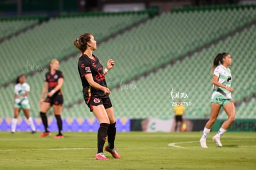
<path id="1" fill-rule="evenodd" d="M 106 142 L 106 137 L 108 135 L 109 124 L 102 123 L 98 129 L 98 153 L 103 152 L 103 147 Z"/>

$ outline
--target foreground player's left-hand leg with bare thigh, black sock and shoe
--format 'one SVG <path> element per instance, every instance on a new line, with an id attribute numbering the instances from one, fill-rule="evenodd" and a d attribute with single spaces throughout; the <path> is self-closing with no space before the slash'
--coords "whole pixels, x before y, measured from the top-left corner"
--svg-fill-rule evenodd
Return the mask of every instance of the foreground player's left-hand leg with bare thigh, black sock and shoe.
<path id="1" fill-rule="evenodd" d="M 109 127 L 109 119 L 108 115 L 106 113 L 106 110 L 103 106 L 103 104 L 100 104 L 98 106 L 90 106 L 92 107 L 93 114 L 95 115 L 96 119 L 98 122 L 100 122 L 100 127 L 98 129 L 98 134 L 97 134 L 97 154 L 95 156 L 95 159 L 101 159 L 101 160 L 108 160 L 106 156 L 103 153 L 103 147 L 106 142 L 106 138 L 108 135 L 108 127 Z"/>

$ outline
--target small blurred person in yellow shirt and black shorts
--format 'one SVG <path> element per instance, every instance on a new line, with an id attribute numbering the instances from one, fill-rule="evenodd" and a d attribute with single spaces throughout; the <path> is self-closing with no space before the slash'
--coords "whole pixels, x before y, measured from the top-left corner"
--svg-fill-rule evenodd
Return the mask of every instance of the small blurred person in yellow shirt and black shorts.
<path id="1" fill-rule="evenodd" d="M 174 106 L 173 112 L 175 115 L 175 132 L 181 132 L 182 130 L 181 125 L 183 124 L 183 114 L 185 113 L 186 108 L 182 105 L 181 100 L 177 101 L 177 105 Z"/>

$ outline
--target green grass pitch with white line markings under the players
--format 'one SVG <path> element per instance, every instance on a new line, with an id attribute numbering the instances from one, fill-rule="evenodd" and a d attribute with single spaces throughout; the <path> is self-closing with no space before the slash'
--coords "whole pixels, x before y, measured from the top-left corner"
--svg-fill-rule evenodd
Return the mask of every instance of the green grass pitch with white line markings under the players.
<path id="1" fill-rule="evenodd" d="M 121 159 L 95 160 L 96 133 L 66 132 L 64 138 L 40 138 L 40 133 L 0 132 L 0 169 L 256 169 L 255 132 L 226 132 L 219 148 L 202 132 L 116 135 Z M 56 133 L 52 133 L 56 135 Z"/>

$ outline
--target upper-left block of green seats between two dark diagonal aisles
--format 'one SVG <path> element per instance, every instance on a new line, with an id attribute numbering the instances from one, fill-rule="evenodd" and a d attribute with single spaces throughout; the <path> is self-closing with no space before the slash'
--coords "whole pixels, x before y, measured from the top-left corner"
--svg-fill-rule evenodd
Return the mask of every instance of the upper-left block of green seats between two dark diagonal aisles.
<path id="1" fill-rule="evenodd" d="M 0 85 L 14 80 L 15 75 L 20 74 L 20 70 L 24 70 L 25 74 L 35 72 L 38 71 L 35 70 L 38 65 L 45 67 L 53 58 L 63 59 L 77 52 L 70 42 L 85 31 L 93 33 L 100 41 L 147 17 L 148 14 L 145 12 L 60 17 L 43 22 L 0 44 L 1 56 L 4 56 L 1 62 L 1 66 L 4 66 L 1 72 L 3 80 Z M 12 67 L 14 63 L 17 64 Z"/>

